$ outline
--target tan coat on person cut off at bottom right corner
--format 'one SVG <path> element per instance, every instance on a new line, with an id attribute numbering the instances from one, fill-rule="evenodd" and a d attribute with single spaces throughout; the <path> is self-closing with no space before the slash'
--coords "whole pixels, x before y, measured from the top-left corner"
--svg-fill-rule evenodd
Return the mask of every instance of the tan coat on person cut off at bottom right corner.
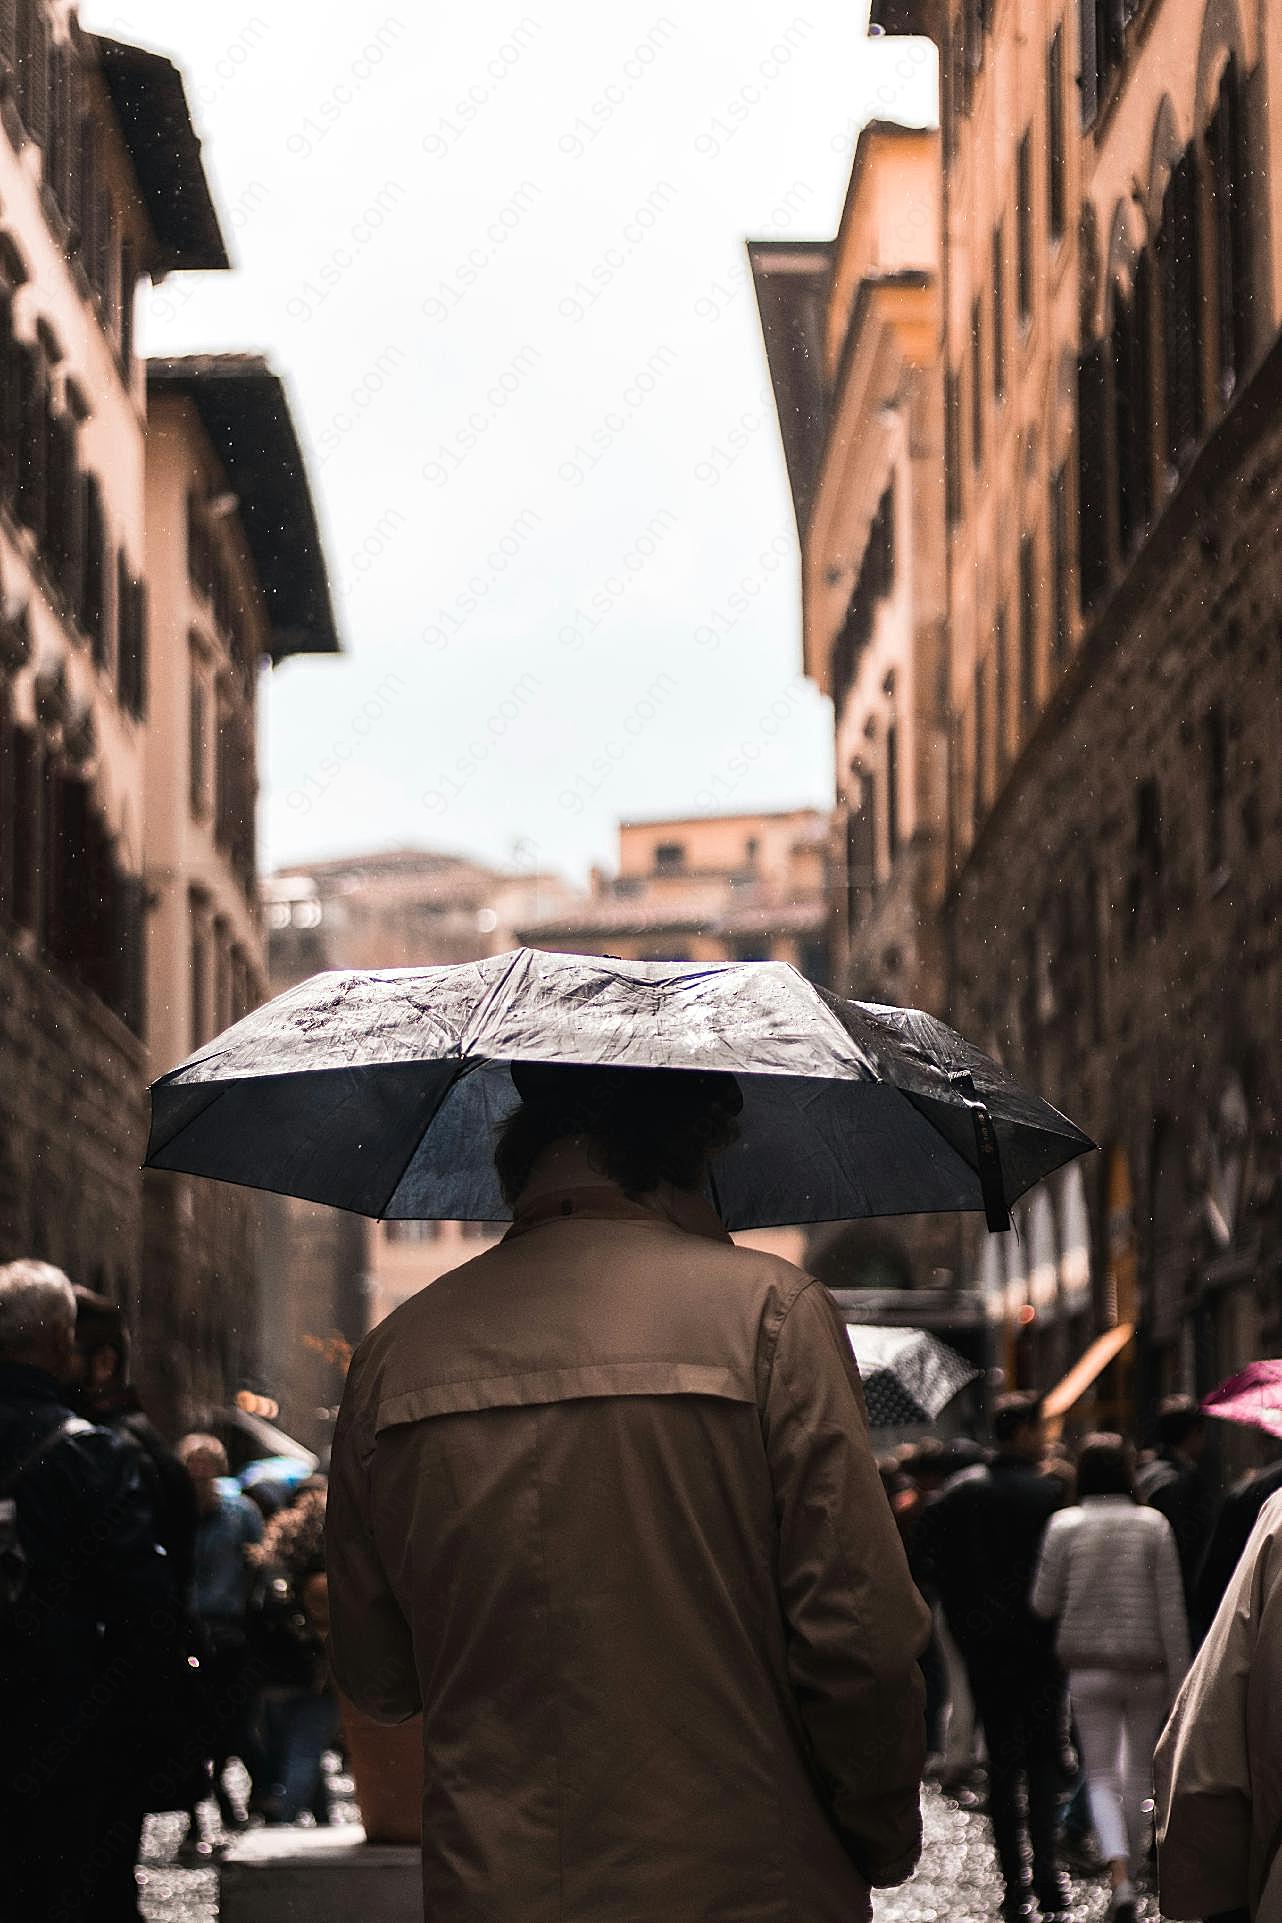
<path id="1" fill-rule="evenodd" d="M 1157 1744 L 1161 1910 L 1282 1923 L 1282 1496 L 1238 1573 Z"/>

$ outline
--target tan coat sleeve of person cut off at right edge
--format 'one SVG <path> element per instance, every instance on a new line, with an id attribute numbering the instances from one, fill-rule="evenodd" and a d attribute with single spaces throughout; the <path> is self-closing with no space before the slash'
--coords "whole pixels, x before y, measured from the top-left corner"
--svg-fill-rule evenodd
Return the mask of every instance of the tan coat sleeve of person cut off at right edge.
<path id="1" fill-rule="evenodd" d="M 1247 1698 L 1270 1554 L 1274 1529 L 1261 1519 L 1157 1744 L 1157 1863 L 1169 1917 L 1247 1908 Z"/>

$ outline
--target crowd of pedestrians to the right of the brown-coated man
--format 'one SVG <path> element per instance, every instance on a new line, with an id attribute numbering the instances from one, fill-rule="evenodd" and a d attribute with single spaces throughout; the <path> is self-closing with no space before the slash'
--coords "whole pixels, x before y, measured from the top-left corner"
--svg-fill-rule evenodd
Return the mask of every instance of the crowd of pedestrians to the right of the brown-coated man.
<path id="1" fill-rule="evenodd" d="M 1240 1631 L 1242 1623 L 1257 1629 L 1261 1610 L 1234 1611 L 1224 1596 L 1245 1579 L 1244 1552 L 1269 1498 L 1282 1490 L 1282 1465 L 1249 1473 L 1217 1500 L 1205 1415 L 1184 1396 L 1163 1402 L 1144 1456 L 1119 1435 L 1090 1435 L 1065 1454 L 1051 1446 L 1032 1394 L 1003 1396 L 992 1435 L 992 1448 L 928 1438 L 880 1461 L 909 1565 L 934 1613 L 923 1658 L 926 1767 L 946 1792 L 986 1806 L 1007 1923 L 1065 1917 L 1069 1867 L 1107 1875 L 1109 1915 L 1128 1923 L 1138 1886 L 1155 1867 L 1155 1752 L 1176 1700 L 1165 1738 L 1172 1779 L 1176 1731 L 1182 1752 L 1192 1752 L 1194 1704 L 1199 1727 L 1213 1708 L 1215 1742 L 1228 1740 L 1222 1725 L 1232 1721 L 1232 1702 L 1215 1696 L 1209 1677 L 1224 1688 L 1236 1663 L 1247 1688 Z M 1274 1535 L 1261 1531 L 1272 1550 Z M 1282 1535 L 1282 1521 L 1274 1533 Z M 1282 1567 L 1269 1567 L 1282 1608 Z M 1199 1669 L 1180 1698 L 1203 1640 Z M 1282 1658 L 1270 1660 L 1282 1681 Z M 1263 1704 L 1261 1690 L 1257 1673 L 1251 1692 Z M 1234 1729 L 1238 1779 L 1249 1783 L 1245 1711 Z M 1282 1811 L 1282 1767 L 1270 1767 Z M 1230 1763 L 1222 1775 L 1232 1781 Z M 1167 1808 L 1180 1811 L 1178 1831 L 1186 1831 L 1182 1785 L 1188 1771 L 1165 1788 Z M 1205 1885 L 1207 1836 L 1226 1848 L 1220 1792 L 1194 1802 L 1199 1850 L 1184 1844 L 1169 1879 L 1163 1871 L 1174 1902 L 1180 1863 L 1197 1860 Z M 1240 1811 L 1238 1823 L 1249 1817 Z M 1244 1838 L 1244 1869 L 1249 1860 Z M 1194 1902 L 1171 1913 L 1228 1923 L 1247 1910 Z"/>

